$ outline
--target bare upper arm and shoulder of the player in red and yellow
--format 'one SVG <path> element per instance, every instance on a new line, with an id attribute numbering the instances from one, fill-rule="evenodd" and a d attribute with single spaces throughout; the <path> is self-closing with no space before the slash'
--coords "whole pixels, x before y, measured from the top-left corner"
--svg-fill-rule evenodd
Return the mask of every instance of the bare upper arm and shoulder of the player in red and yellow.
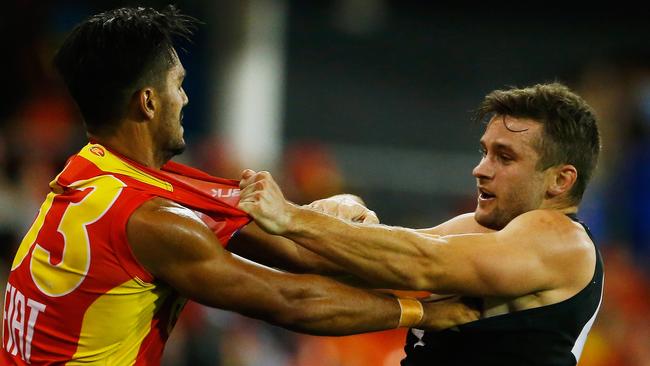
<path id="1" fill-rule="evenodd" d="M 130 218 L 127 235 L 143 266 L 188 298 L 251 316 L 260 315 L 257 301 L 270 311 L 282 306 L 275 282 L 263 280 L 273 272 L 224 250 L 190 210 L 147 202 Z"/>

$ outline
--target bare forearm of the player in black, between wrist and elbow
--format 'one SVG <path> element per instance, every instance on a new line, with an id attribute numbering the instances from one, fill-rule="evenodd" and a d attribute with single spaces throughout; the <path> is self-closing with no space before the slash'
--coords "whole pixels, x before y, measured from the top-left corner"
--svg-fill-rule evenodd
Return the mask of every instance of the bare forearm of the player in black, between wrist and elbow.
<path id="1" fill-rule="evenodd" d="M 438 273 L 435 236 L 384 225 L 360 225 L 294 207 L 283 236 L 386 288 L 431 290 Z"/>

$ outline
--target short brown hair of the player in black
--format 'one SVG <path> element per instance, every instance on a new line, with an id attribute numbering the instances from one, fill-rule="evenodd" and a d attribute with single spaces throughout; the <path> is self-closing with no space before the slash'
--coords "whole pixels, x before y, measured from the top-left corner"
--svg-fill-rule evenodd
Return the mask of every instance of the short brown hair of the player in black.
<path id="1" fill-rule="evenodd" d="M 577 94 L 560 83 L 537 84 L 528 88 L 495 90 L 478 108 L 477 118 L 511 116 L 541 123 L 544 128 L 537 144 L 537 168 L 560 164 L 578 171 L 569 196 L 579 203 L 598 162 L 600 134 L 593 109 Z"/>

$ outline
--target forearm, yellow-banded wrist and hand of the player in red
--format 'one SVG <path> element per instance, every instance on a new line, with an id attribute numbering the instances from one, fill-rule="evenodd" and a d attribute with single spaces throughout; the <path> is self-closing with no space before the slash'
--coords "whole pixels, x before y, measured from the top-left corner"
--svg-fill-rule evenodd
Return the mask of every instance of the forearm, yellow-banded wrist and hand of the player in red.
<path id="1" fill-rule="evenodd" d="M 479 319 L 480 309 L 459 297 L 421 303 L 399 300 L 376 291 L 341 287 L 319 276 L 308 279 L 308 288 L 283 291 L 292 304 L 278 325 L 314 335 L 349 335 L 415 327 L 442 330 Z M 287 311 L 288 310 L 288 311 Z"/>

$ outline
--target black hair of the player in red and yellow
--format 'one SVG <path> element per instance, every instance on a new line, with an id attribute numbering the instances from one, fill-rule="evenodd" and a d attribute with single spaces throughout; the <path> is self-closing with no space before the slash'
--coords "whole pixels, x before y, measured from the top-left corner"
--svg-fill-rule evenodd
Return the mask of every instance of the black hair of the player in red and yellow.
<path id="1" fill-rule="evenodd" d="M 110 133 L 133 94 L 164 85 L 176 60 L 175 44 L 189 40 L 198 21 L 174 6 L 120 8 L 78 24 L 54 57 L 86 128 Z"/>

